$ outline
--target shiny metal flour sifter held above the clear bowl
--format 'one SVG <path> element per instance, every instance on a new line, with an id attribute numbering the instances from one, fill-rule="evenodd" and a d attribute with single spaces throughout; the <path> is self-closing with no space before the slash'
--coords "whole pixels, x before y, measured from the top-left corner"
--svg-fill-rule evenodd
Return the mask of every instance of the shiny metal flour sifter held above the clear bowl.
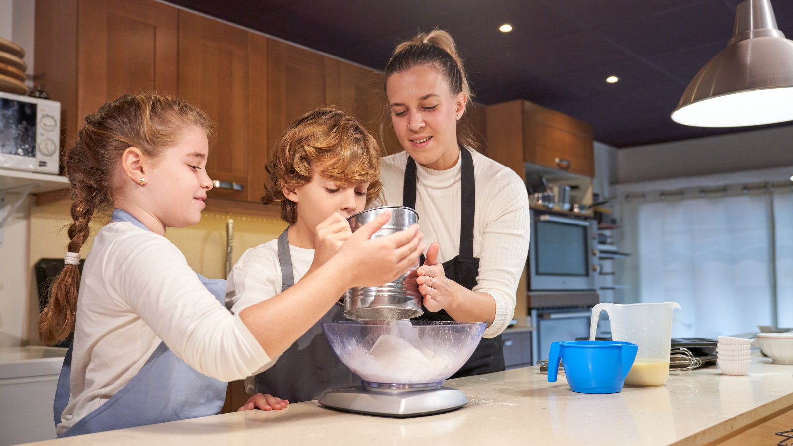
<path id="1" fill-rule="evenodd" d="M 408 229 L 419 220 L 415 210 L 404 206 L 381 206 L 356 213 L 347 218 L 350 229 L 357 231 L 375 217 L 391 211 L 391 218 L 383 227 L 374 233 L 372 238 L 387 236 Z M 416 262 L 408 272 L 400 275 L 397 280 L 383 286 L 357 286 L 344 294 L 344 316 L 349 319 L 366 321 L 388 321 L 409 319 L 423 314 L 421 310 L 421 294 L 416 283 L 418 274 Z"/>

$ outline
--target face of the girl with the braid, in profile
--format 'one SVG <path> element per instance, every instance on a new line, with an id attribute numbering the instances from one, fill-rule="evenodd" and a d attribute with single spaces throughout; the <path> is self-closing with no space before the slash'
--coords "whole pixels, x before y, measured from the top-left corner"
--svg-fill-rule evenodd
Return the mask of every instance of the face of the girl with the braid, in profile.
<path id="1" fill-rule="evenodd" d="M 184 228 L 201 221 L 206 192 L 212 189 L 212 180 L 205 170 L 208 153 L 206 133 L 192 127 L 144 171 L 141 198 L 148 212 L 165 227 Z"/>

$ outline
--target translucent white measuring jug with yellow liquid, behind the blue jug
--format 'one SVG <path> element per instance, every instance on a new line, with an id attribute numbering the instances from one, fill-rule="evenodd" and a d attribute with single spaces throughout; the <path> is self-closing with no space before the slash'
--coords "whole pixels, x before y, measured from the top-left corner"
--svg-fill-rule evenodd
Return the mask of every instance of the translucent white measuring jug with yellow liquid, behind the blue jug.
<path id="1" fill-rule="evenodd" d="M 595 340 L 600 310 L 606 310 L 611 323 L 611 340 L 639 346 L 634 367 L 626 384 L 658 386 L 669 377 L 669 347 L 672 344 L 672 310 L 676 302 L 619 305 L 599 303 L 592 307 L 589 340 Z"/>

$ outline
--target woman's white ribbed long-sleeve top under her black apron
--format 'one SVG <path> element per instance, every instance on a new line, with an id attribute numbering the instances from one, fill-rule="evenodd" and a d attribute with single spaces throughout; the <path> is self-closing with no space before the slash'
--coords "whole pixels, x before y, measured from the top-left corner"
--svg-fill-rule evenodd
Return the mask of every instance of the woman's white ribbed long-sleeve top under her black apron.
<path id="1" fill-rule="evenodd" d="M 496 301 L 496 318 L 485 338 L 498 336 L 515 314 L 515 293 L 529 252 L 529 198 L 523 180 L 508 167 L 478 152 L 473 156 L 476 206 L 473 221 L 473 256 L 479 258 L 477 286 Z M 382 201 L 402 206 L 404 170 L 408 152 L 380 160 Z M 462 156 L 446 171 L 433 171 L 416 163 L 416 212 L 424 234 L 422 243 L 440 244 L 439 261 L 460 252 Z"/>

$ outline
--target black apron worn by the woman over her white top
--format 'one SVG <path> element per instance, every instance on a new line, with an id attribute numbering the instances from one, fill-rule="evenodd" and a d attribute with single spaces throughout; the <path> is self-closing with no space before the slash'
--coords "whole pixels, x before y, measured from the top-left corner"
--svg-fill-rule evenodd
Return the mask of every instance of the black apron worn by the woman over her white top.
<path id="1" fill-rule="evenodd" d="M 473 177 L 473 156 L 467 148 L 460 148 L 462 156 L 462 214 L 460 221 L 460 253 L 454 259 L 442 263 L 446 278 L 454 280 L 469 290 L 477 285 L 479 259 L 473 256 L 473 214 L 476 203 L 476 188 Z M 416 209 L 416 161 L 408 156 L 404 169 L 404 190 L 402 206 Z M 424 256 L 421 256 L 424 263 Z M 424 313 L 416 321 L 454 321 L 446 310 L 430 313 L 422 304 Z M 473 355 L 451 378 L 482 375 L 504 370 L 504 347 L 501 335 L 491 339 L 482 338 Z"/>

